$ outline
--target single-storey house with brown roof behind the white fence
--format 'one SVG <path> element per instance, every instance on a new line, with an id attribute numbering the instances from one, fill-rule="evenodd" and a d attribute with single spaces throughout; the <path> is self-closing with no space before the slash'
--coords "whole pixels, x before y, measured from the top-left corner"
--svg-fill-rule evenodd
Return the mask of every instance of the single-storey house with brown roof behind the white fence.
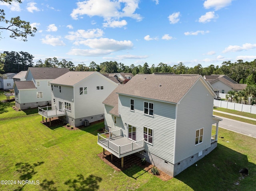
<path id="1" fill-rule="evenodd" d="M 217 95 L 218 93 L 227 94 L 230 90 L 241 91 L 247 86 L 246 84 L 237 83 L 226 75 L 205 75 L 204 79 L 212 85 Z"/>

